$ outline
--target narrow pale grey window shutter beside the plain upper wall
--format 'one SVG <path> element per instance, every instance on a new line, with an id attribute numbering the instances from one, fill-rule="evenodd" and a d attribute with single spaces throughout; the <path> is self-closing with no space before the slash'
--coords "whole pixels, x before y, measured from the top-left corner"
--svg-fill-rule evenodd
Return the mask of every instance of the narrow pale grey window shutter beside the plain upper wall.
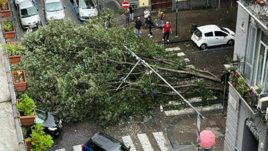
<path id="1" fill-rule="evenodd" d="M 247 83 L 252 85 L 252 77 L 253 77 L 253 63 L 254 63 L 254 44 L 256 40 L 256 28 L 250 25 L 249 34 L 248 34 L 248 42 L 247 42 L 247 56 L 245 58 L 245 78 Z"/>

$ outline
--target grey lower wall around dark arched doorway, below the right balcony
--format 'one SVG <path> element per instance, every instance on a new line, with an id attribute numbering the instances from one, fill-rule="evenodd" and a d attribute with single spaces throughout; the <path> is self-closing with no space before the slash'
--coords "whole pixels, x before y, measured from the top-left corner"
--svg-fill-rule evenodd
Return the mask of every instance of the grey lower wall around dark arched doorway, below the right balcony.
<path id="1" fill-rule="evenodd" d="M 250 144 L 250 142 L 248 142 L 250 139 L 247 139 L 250 135 L 244 133 L 245 120 L 250 117 L 254 119 L 254 124 L 258 130 L 258 151 L 267 151 L 263 145 L 267 139 L 267 128 L 265 124 L 260 121 L 261 117 L 254 115 L 252 111 L 250 111 L 247 104 L 241 100 L 240 95 L 238 95 L 232 85 L 230 85 L 224 141 L 225 151 L 252 151 L 249 148 L 245 148 L 245 144 Z"/>

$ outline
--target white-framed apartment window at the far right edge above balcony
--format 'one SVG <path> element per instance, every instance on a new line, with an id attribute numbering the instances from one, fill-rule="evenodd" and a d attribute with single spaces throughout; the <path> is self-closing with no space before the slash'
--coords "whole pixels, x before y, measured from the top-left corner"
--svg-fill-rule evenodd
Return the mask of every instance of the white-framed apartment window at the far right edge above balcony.
<path id="1" fill-rule="evenodd" d="M 255 84 L 263 88 L 263 93 L 268 93 L 268 36 L 262 32 L 260 36 L 260 47 L 257 59 L 257 73 Z"/>

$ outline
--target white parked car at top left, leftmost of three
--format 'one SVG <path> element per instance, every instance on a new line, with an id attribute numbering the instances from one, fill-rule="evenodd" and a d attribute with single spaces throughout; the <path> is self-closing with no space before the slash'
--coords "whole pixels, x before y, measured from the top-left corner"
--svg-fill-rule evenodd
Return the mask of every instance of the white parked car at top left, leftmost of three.
<path id="1" fill-rule="evenodd" d="M 27 29 L 29 25 L 32 28 L 40 25 L 39 14 L 31 0 L 20 1 L 17 5 L 17 10 L 23 29 Z"/>

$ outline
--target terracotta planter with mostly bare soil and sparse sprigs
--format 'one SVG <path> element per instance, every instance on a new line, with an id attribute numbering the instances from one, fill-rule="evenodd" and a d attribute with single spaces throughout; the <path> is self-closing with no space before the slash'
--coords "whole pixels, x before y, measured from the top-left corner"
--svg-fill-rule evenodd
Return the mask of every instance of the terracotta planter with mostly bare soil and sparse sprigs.
<path id="1" fill-rule="evenodd" d="M 27 81 L 26 81 L 26 75 L 25 75 L 24 70 L 14 70 L 14 71 L 11 71 L 11 74 L 12 74 L 12 80 L 13 80 L 13 84 L 14 84 L 16 91 L 18 92 L 25 91 Z"/>

